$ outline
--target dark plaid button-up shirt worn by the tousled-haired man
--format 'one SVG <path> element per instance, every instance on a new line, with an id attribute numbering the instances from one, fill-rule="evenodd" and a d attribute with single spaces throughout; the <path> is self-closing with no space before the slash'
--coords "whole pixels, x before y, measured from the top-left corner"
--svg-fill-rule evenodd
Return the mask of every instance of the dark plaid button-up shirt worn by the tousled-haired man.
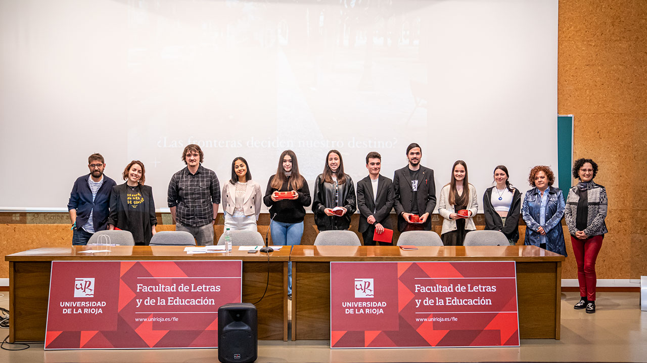
<path id="1" fill-rule="evenodd" d="M 214 220 L 214 206 L 220 204 L 220 183 L 215 172 L 202 164 L 195 174 L 188 167 L 176 172 L 168 183 L 168 206 L 182 225 L 202 227 Z"/>

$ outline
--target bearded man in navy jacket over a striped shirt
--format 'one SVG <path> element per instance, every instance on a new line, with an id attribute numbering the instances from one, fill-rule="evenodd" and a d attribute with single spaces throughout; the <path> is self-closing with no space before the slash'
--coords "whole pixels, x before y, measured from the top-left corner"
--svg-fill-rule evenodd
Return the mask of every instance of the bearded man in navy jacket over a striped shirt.
<path id="1" fill-rule="evenodd" d="M 72 221 L 72 245 L 85 245 L 93 233 L 107 229 L 110 193 L 115 181 L 104 175 L 105 162 L 101 154 L 87 158 L 90 174 L 74 182 L 67 210 Z"/>

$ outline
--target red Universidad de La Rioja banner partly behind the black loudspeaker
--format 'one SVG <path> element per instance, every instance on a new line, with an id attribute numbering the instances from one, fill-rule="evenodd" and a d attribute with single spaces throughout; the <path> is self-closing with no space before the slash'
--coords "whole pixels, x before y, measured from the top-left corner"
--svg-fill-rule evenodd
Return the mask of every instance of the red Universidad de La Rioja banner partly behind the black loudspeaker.
<path id="1" fill-rule="evenodd" d="M 216 347 L 241 261 L 54 261 L 45 349 Z"/>

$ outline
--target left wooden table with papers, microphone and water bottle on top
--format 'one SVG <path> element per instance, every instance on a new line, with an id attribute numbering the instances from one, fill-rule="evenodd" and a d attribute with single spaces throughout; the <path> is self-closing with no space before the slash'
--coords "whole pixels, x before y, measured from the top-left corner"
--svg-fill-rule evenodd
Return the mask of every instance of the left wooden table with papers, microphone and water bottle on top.
<path id="1" fill-rule="evenodd" d="M 256 302 L 269 286 L 258 309 L 258 338 L 287 340 L 287 262 L 290 247 L 268 255 L 234 251 L 230 254 L 186 254 L 185 246 L 113 246 L 109 253 L 78 253 L 87 246 L 39 248 L 9 254 L 9 342 L 45 340 L 47 301 L 52 261 L 242 260 L 243 302 Z M 95 247 L 96 249 L 96 247 Z M 281 314 L 281 311 L 283 312 Z"/>

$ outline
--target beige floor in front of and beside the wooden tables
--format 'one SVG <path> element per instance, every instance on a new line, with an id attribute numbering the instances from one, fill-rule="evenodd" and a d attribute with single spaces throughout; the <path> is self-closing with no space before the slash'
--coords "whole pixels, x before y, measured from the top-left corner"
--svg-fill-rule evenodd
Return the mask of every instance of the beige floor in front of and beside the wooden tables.
<path id="1" fill-rule="evenodd" d="M 0 306 L 8 308 L 8 293 L 0 294 Z M 260 341 L 257 362 L 647 362 L 647 311 L 640 310 L 639 293 L 598 293 L 595 314 L 574 310 L 578 299 L 577 293 L 562 293 L 561 340 L 521 340 L 521 347 L 512 348 L 334 350 L 325 340 Z M 6 334 L 0 331 L 0 338 Z M 32 344 L 24 351 L 0 351 L 0 362 L 212 363 L 217 351 L 44 351 L 43 344 Z"/>

